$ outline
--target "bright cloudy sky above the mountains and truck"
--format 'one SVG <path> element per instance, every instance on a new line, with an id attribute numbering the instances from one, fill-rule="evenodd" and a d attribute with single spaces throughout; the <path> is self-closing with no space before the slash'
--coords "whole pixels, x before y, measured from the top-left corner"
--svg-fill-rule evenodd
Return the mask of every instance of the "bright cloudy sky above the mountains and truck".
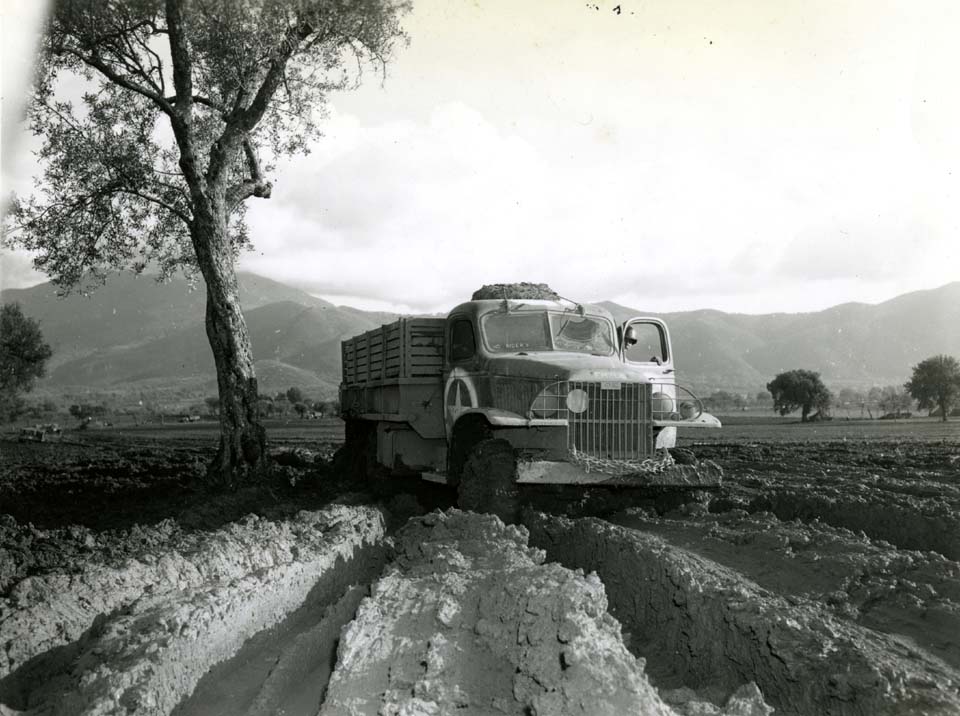
<path id="1" fill-rule="evenodd" d="M 248 202 L 242 269 L 401 312 L 508 281 L 770 313 L 960 280 L 956 3 L 413 6 L 385 80 L 332 96 Z M 36 171 L 33 7 L 3 2 L 4 192 Z M 45 280 L 0 261 L 5 287 Z"/>

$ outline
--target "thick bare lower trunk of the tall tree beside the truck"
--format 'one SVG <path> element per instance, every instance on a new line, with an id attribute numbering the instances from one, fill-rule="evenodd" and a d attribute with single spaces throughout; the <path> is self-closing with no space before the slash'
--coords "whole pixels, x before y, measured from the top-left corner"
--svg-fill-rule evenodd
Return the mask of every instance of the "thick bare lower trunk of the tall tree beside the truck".
<path id="1" fill-rule="evenodd" d="M 215 486 L 233 489 L 259 477 L 266 466 L 253 350 L 240 309 L 226 212 L 216 205 L 198 212 L 191 234 L 207 286 L 207 338 L 220 395 L 220 446 L 207 478 Z"/>

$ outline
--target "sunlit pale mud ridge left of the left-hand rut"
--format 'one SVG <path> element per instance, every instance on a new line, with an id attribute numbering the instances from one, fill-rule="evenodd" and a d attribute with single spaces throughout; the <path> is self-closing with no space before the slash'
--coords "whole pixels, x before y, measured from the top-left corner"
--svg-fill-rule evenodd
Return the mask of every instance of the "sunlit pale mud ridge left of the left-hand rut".
<path id="1" fill-rule="evenodd" d="M 345 591 L 383 533 L 379 511 L 333 506 L 251 517 L 194 553 L 120 572 L 28 578 L 4 604 L 0 701 L 31 714 L 170 713 L 248 638 Z"/>

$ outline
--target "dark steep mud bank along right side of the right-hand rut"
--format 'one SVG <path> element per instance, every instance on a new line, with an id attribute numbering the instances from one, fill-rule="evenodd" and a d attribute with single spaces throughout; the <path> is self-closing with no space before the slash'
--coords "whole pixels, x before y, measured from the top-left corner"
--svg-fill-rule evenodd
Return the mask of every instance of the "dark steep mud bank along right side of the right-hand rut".
<path id="1" fill-rule="evenodd" d="M 903 640 L 636 529 L 540 514 L 526 522 L 548 558 L 597 571 L 661 688 L 729 692 L 753 680 L 782 713 L 960 713 L 960 673 Z"/>

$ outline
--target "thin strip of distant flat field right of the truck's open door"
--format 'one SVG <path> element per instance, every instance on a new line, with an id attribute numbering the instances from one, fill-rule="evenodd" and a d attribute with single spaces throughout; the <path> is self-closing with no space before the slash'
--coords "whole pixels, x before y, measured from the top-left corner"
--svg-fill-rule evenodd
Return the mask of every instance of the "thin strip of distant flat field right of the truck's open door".
<path id="1" fill-rule="evenodd" d="M 937 418 L 852 420 L 801 423 L 795 417 L 721 415 L 719 430 L 680 430 L 682 444 L 717 442 L 829 442 L 835 440 L 914 440 L 960 443 L 960 420 Z"/>

